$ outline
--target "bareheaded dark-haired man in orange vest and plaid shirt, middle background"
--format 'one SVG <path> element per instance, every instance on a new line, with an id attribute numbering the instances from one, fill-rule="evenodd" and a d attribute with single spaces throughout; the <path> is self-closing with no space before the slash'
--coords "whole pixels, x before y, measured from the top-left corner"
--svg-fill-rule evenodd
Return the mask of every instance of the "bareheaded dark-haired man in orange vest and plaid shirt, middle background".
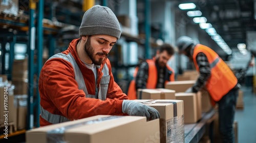
<path id="1" fill-rule="evenodd" d="M 156 52 L 153 59 L 148 59 L 135 69 L 134 80 L 131 81 L 127 96 L 130 99 L 137 99 L 138 89 L 164 88 L 168 81 L 174 81 L 174 70 L 167 64 L 167 61 L 174 55 L 174 47 L 170 44 L 163 44 Z"/>

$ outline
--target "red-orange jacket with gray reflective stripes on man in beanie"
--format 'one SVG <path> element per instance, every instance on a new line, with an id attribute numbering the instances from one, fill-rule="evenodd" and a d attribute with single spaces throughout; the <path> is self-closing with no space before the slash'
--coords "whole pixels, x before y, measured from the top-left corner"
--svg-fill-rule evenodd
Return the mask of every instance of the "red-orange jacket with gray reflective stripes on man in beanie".
<path id="1" fill-rule="evenodd" d="M 95 81 L 76 53 L 78 42 L 74 39 L 68 50 L 51 57 L 41 69 L 40 126 L 99 114 L 123 115 L 122 101 L 129 98 L 114 81 L 109 59 L 96 66 Z"/>

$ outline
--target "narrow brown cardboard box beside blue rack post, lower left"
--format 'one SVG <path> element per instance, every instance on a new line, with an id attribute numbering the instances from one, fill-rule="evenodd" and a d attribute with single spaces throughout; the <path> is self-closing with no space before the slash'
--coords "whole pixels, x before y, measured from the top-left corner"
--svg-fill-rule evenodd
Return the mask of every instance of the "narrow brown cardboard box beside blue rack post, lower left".
<path id="1" fill-rule="evenodd" d="M 16 127 L 18 130 L 22 130 L 26 128 L 26 119 L 27 119 L 27 113 L 28 113 L 27 99 L 28 99 L 27 95 L 14 96 L 14 105 L 17 110 Z"/>

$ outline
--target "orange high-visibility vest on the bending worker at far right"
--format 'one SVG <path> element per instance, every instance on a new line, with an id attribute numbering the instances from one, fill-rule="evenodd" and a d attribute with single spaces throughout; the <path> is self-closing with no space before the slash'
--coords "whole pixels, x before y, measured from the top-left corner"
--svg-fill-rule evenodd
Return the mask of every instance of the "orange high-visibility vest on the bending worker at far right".
<path id="1" fill-rule="evenodd" d="M 210 64 L 210 77 L 206 82 L 206 88 L 215 102 L 221 100 L 234 86 L 237 85 L 238 80 L 234 76 L 232 70 L 227 64 L 219 57 L 219 55 L 211 50 L 209 47 L 197 44 L 194 49 L 193 60 L 195 67 L 199 71 L 196 57 L 198 53 L 204 53 Z M 215 103 L 212 102 L 212 105 Z"/>

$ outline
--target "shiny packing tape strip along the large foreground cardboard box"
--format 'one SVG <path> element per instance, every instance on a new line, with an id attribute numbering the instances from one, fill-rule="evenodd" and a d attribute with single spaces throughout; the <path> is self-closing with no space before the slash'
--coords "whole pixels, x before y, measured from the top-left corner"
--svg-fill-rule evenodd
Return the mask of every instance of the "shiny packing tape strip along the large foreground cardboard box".
<path id="1" fill-rule="evenodd" d="M 50 130 L 47 132 L 47 142 L 48 143 L 65 143 L 67 141 L 65 141 L 64 139 L 64 133 L 66 130 L 72 129 L 72 128 L 76 128 L 76 127 L 80 127 L 80 126 L 84 126 L 84 125 L 91 125 L 91 124 L 97 124 L 97 123 L 101 123 L 104 121 L 109 121 L 109 120 L 113 120 L 113 119 L 117 119 L 123 116 L 108 116 L 108 117 L 101 117 L 101 118 L 97 118 L 95 120 L 90 120 L 90 121 L 85 121 L 85 122 L 81 122 L 81 123 L 77 123 L 74 125 L 68 125 L 68 126 L 64 126 L 64 127 L 59 127 L 53 130 Z"/>

